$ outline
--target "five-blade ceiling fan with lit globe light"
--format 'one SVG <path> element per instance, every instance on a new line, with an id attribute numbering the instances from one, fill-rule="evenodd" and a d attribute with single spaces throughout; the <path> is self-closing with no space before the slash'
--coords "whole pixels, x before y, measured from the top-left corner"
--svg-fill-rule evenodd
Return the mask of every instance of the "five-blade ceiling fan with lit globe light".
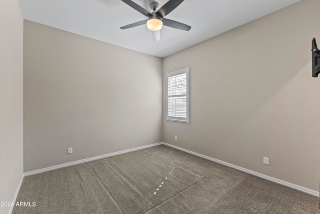
<path id="1" fill-rule="evenodd" d="M 150 8 L 153 11 L 152 13 L 149 13 L 147 10 L 135 4 L 131 0 L 121 1 L 147 17 L 146 20 L 121 27 L 120 29 L 122 30 L 146 24 L 147 28 L 152 32 L 153 40 L 158 41 L 160 39 L 160 29 L 162 28 L 162 25 L 183 31 L 189 31 L 191 29 L 188 25 L 164 18 L 184 0 L 169 0 L 160 9 L 158 3 L 152 2 L 150 4 Z"/>

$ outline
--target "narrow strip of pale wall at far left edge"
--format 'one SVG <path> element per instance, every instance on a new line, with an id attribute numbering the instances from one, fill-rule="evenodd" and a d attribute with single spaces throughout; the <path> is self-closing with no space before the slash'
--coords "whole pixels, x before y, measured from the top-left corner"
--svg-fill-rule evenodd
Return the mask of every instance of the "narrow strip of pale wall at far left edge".
<path id="1" fill-rule="evenodd" d="M 23 19 L 17 0 L 0 1 L 0 201 L 12 201 L 23 172 Z M 10 207 L 1 207 L 7 213 Z"/>

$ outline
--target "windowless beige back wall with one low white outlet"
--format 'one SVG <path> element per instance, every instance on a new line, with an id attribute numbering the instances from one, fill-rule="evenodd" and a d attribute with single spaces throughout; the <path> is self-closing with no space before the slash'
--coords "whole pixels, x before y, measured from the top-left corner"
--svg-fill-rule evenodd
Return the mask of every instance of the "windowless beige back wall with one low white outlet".
<path id="1" fill-rule="evenodd" d="M 23 47 L 24 171 L 161 142 L 162 59 L 30 21 Z"/>

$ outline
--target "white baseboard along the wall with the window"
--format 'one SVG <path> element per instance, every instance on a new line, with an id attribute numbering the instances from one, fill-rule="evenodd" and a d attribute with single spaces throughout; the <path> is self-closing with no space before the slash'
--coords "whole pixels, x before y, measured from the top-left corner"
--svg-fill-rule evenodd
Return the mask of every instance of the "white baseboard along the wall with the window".
<path id="1" fill-rule="evenodd" d="M 288 186 L 288 187 L 291 187 L 293 189 L 297 189 L 297 190 L 300 190 L 302 192 L 305 192 L 305 193 L 308 193 L 308 194 L 311 194 L 311 195 L 314 195 L 314 196 L 317 196 L 319 197 L 319 192 L 317 191 L 314 191 L 312 189 L 308 189 L 308 188 L 305 188 L 305 187 L 302 187 L 302 186 L 298 186 L 298 185 L 295 185 L 293 183 L 289 183 L 289 182 L 286 182 L 286 181 L 283 181 L 283 180 L 279 180 L 277 178 L 274 178 L 274 177 L 270 177 L 268 175 L 265 175 L 265 174 L 261 174 L 261 173 L 258 173 L 258 172 L 255 172 L 255 171 L 252 171 L 252 170 L 249 170 L 249 169 L 246 169 L 246 168 L 242 168 L 240 166 L 236 166 L 236 165 L 233 165 L 231 163 L 227 163 L 227 162 L 224 162 L 224 161 L 221 161 L 221 160 L 218 160 L 218 159 L 214 159 L 212 157 L 208 157 L 208 156 L 205 156 L 205 155 L 202 155 L 202 154 L 199 154 L 199 153 L 196 153 L 196 152 L 193 152 L 193 151 L 189 151 L 187 149 L 183 149 L 183 148 L 180 148 L 180 147 L 177 147 L 177 146 L 174 146 L 174 145 L 171 145 L 171 144 L 168 144 L 168 143 L 164 143 L 162 142 L 162 144 L 164 145 L 167 145 L 167 146 L 170 146 L 172 148 L 175 148 L 175 149 L 178 149 L 178 150 L 181 150 L 181 151 L 184 151 L 184 152 L 187 152 L 187 153 L 190 153 L 190 154 L 193 154 L 193 155 L 196 155 L 198 157 L 202 157 L 204 159 L 208 159 L 208 160 L 211 160 L 211 161 L 214 161 L 214 162 L 217 162 L 217 163 L 221 163 L 223 165 L 226 165 L 226 166 L 229 166 L 231 168 L 235 168 L 235 169 L 238 169 L 240 171 L 244 171 L 246 173 L 249 173 L 249 174 L 252 174 L 252 175 L 255 175 L 257 177 L 261 177 L 261 178 L 264 178 L 266 180 L 270 180 L 270 181 L 273 181 L 275 183 L 279 183 L 279 184 L 282 184 L 284 186 Z"/>

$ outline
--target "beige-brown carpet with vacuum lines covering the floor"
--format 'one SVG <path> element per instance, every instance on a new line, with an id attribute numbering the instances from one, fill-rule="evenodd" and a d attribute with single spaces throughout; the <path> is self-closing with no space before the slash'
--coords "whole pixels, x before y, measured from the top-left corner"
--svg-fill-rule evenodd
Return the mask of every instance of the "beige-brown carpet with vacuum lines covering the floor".
<path id="1" fill-rule="evenodd" d="M 318 197 L 160 145 L 26 176 L 12 213 L 320 213 Z"/>

